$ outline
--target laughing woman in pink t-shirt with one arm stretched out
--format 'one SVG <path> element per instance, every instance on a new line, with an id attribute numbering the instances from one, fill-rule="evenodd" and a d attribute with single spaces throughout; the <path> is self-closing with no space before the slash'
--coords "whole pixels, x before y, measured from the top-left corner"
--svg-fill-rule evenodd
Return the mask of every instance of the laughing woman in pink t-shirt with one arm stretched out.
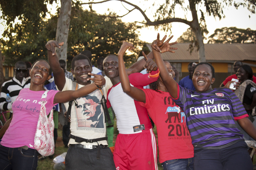
<path id="1" fill-rule="evenodd" d="M 45 92 L 45 82 L 51 78 L 51 68 L 47 61 L 37 60 L 30 69 L 30 88 L 22 89 L 12 103 L 13 114 L 0 129 L 0 170 L 36 170 L 38 152 L 34 148 L 34 137 L 39 118 L 41 97 Z M 94 75 L 88 73 L 89 75 Z M 94 75 L 94 83 L 78 90 L 50 90 L 46 98 L 46 112 L 57 103 L 64 103 L 88 95 L 105 84 L 102 75 Z M 98 87 L 97 87 L 98 86 Z"/>

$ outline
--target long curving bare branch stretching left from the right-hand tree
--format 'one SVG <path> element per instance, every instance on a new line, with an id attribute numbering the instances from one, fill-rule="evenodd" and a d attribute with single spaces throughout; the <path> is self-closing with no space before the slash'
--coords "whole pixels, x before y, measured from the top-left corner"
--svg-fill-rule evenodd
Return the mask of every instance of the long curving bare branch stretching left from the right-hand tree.
<path id="1" fill-rule="evenodd" d="M 98 3 L 104 3 L 104 2 L 108 2 L 108 1 L 111 1 L 111 0 L 103 0 L 103 1 L 100 1 L 100 2 L 87 2 L 87 3 L 81 3 L 80 5 L 86 5 L 86 4 L 98 4 Z M 181 19 L 181 18 L 170 18 L 170 19 L 164 19 L 164 20 L 160 20 L 160 21 L 150 21 L 150 19 L 147 17 L 147 15 L 145 14 L 145 12 L 140 8 L 138 7 L 137 5 L 134 5 L 132 4 L 131 2 L 127 2 L 126 0 L 117 0 L 117 1 L 120 1 L 120 2 L 125 2 L 131 6 L 134 7 L 134 9 L 137 9 L 139 10 L 139 12 L 141 12 L 141 14 L 143 15 L 143 17 L 145 18 L 146 20 L 146 23 L 144 24 L 148 24 L 148 25 L 159 25 L 159 24 L 166 24 L 166 23 L 171 23 L 171 22 L 181 22 L 181 23 L 184 23 L 184 24 L 187 24 L 191 27 L 191 22 L 190 21 L 187 21 L 186 19 Z M 133 10 L 134 10 L 133 9 Z M 130 12 L 130 11 L 129 11 Z M 128 13 L 129 13 L 128 12 Z M 127 13 L 127 14 L 128 14 Z M 126 14 L 126 15 L 127 15 Z M 121 17 L 121 16 L 120 16 Z"/>

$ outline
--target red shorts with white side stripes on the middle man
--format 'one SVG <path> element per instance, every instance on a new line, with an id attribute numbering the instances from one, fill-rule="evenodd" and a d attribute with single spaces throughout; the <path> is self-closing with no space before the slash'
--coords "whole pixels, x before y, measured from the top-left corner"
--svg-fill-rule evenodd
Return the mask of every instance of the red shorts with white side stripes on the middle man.
<path id="1" fill-rule="evenodd" d="M 153 130 L 117 135 L 113 156 L 117 170 L 158 170 Z"/>

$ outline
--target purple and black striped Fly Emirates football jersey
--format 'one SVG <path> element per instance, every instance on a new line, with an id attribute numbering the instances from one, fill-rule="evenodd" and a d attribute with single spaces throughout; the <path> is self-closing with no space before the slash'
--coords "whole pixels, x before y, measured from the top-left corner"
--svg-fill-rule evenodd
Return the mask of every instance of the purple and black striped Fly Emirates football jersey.
<path id="1" fill-rule="evenodd" d="M 196 92 L 178 86 L 174 100 L 184 110 L 194 147 L 225 148 L 243 139 L 234 119 L 248 117 L 243 104 L 228 88 Z"/>

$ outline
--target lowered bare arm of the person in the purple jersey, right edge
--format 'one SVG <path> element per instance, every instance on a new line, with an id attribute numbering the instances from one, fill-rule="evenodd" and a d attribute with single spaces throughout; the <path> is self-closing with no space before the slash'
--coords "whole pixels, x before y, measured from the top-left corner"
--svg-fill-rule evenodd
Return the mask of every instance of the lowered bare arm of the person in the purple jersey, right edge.
<path id="1" fill-rule="evenodd" d="M 252 138 L 254 138 L 254 140 L 256 140 L 256 127 L 247 117 L 243 119 L 238 119 L 237 123 L 241 126 L 242 129 L 244 129 L 247 134 L 249 134 Z"/>

